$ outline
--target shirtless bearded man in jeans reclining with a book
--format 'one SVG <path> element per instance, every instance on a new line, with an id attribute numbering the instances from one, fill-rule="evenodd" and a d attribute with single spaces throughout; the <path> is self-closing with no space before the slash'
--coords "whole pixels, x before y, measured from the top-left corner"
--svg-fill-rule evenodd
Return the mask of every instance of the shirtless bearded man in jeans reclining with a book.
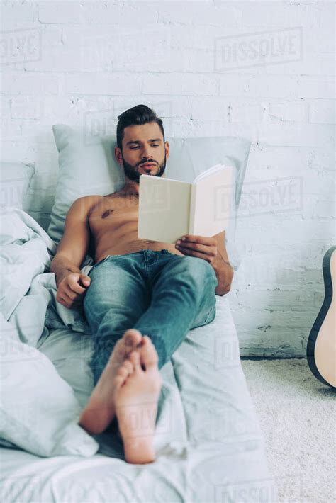
<path id="1" fill-rule="evenodd" d="M 213 320 L 215 294 L 228 293 L 233 269 L 224 232 L 186 235 L 176 244 L 138 239 L 140 175 L 164 176 L 169 143 L 162 120 L 145 105 L 118 119 L 115 156 L 125 185 L 74 201 L 50 271 L 57 302 L 83 305 L 94 339 L 95 387 L 79 424 L 99 434 L 116 418 L 125 460 L 150 463 L 159 368 L 189 329 Z M 79 267 L 88 253 L 94 267 L 86 276 Z"/>

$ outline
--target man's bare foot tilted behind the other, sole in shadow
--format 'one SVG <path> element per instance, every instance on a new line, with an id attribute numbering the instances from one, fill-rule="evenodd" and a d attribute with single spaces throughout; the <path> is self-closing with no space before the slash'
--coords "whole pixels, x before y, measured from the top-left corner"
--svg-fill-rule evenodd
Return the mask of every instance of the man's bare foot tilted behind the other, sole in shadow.
<path id="1" fill-rule="evenodd" d="M 117 375 L 118 368 L 124 361 L 127 362 L 128 355 L 140 346 L 141 341 L 143 341 L 142 334 L 136 329 L 129 329 L 116 342 L 108 363 L 79 418 L 80 426 L 89 434 L 99 434 L 106 430 L 111 423 L 115 415 L 113 380 Z M 130 371 L 133 370 L 129 361 L 125 365 L 128 366 Z"/>

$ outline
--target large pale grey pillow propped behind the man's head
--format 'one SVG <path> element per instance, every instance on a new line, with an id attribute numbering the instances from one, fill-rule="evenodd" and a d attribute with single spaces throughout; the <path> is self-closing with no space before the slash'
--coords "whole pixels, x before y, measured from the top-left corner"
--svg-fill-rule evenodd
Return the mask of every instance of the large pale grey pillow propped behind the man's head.
<path id="1" fill-rule="evenodd" d="M 54 125 L 60 170 L 57 178 L 55 203 L 52 207 L 48 234 L 56 242 L 62 238 L 65 217 L 74 200 L 90 194 L 106 196 L 120 190 L 125 183 L 123 169 L 114 157 L 116 136 L 87 135 L 84 128 Z M 193 181 L 198 174 L 214 164 L 222 163 L 235 168 L 235 190 L 225 244 L 234 269 L 240 260 L 235 247 L 237 209 L 242 193 L 251 142 L 240 137 L 169 138 L 170 154 L 167 177 Z M 90 264 L 86 257 L 84 264 Z"/>

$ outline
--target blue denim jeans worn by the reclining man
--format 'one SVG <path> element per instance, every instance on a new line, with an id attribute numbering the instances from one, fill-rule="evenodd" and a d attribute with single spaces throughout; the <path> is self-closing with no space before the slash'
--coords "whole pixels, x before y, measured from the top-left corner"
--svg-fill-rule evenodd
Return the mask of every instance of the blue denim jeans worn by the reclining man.
<path id="1" fill-rule="evenodd" d="M 150 337 L 162 368 L 190 329 L 215 318 L 218 280 L 206 260 L 142 249 L 106 256 L 89 276 L 83 308 L 93 336 L 95 383 L 125 330 Z"/>

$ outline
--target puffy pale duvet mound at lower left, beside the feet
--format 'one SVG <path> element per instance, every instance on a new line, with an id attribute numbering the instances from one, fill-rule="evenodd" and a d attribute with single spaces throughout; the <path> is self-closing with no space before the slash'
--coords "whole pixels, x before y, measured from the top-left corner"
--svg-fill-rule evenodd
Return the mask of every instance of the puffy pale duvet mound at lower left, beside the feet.
<path id="1" fill-rule="evenodd" d="M 93 456 L 99 446 L 78 424 L 74 391 L 1 312 L 0 355 L 0 443 L 38 456 Z"/>

